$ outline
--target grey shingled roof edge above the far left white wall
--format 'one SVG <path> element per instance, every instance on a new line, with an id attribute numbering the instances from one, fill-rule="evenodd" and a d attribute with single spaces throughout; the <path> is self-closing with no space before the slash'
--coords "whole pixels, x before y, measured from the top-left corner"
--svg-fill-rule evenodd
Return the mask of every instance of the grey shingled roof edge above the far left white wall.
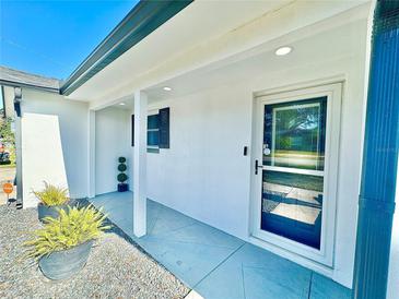
<path id="1" fill-rule="evenodd" d="M 0 84 L 8 86 L 33 87 L 59 93 L 60 81 L 36 74 L 13 70 L 0 65 Z"/>

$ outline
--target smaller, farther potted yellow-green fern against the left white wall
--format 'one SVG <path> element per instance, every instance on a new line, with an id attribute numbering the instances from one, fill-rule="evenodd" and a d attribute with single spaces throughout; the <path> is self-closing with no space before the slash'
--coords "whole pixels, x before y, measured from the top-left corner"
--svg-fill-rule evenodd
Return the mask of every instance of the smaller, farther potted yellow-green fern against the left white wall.
<path id="1" fill-rule="evenodd" d="M 38 218 L 40 222 L 45 217 L 58 217 L 58 210 L 66 210 L 73 202 L 68 196 L 68 189 L 57 187 L 47 182 L 42 191 L 33 191 L 35 196 L 40 201 L 37 205 Z"/>

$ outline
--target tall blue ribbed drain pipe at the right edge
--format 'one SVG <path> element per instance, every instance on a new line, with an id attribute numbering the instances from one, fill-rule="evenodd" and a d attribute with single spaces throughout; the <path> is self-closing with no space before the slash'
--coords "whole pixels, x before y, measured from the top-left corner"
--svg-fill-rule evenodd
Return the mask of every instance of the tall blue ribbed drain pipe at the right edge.
<path id="1" fill-rule="evenodd" d="M 354 299 L 386 298 L 399 145 L 399 0 L 374 12 Z"/>

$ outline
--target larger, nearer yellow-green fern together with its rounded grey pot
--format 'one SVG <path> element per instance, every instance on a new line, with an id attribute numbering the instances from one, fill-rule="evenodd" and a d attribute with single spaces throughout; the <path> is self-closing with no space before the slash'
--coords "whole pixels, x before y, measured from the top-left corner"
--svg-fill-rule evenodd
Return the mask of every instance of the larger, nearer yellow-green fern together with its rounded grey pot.
<path id="1" fill-rule="evenodd" d="M 59 210 L 59 217 L 46 217 L 43 228 L 24 244 L 26 256 L 38 260 L 42 273 L 50 279 L 64 279 L 84 267 L 94 240 L 110 226 L 105 215 L 93 206 Z"/>

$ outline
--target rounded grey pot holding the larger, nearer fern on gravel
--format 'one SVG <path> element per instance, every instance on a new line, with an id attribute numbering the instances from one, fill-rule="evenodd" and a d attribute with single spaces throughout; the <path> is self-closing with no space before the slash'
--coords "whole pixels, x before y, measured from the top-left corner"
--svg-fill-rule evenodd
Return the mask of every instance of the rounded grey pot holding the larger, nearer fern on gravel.
<path id="1" fill-rule="evenodd" d="M 74 248 L 56 251 L 40 258 L 38 266 L 42 273 L 54 280 L 71 277 L 86 264 L 93 242 L 91 240 Z"/>

